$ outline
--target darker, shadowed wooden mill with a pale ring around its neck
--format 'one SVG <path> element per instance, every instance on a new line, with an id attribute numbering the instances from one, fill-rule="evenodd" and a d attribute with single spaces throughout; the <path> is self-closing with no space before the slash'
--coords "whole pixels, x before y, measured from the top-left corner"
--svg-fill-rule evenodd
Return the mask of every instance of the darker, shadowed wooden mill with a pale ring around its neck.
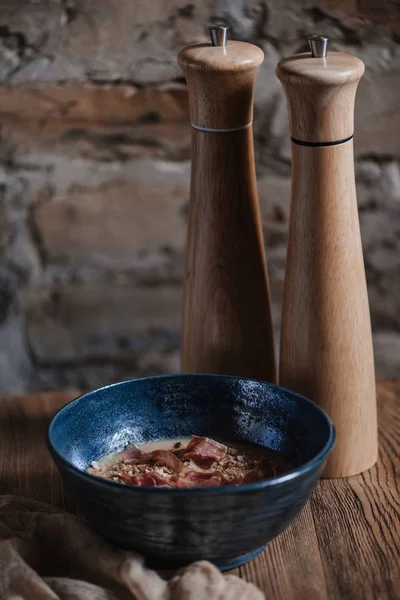
<path id="1" fill-rule="evenodd" d="M 178 56 L 192 124 L 182 371 L 275 381 L 252 130 L 264 54 L 227 29 Z"/>

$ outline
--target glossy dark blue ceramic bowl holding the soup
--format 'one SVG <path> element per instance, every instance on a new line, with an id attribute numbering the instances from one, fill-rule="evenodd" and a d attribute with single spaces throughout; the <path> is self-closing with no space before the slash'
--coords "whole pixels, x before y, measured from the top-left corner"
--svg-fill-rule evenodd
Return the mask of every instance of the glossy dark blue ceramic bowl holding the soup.
<path id="1" fill-rule="evenodd" d="M 240 486 L 126 486 L 85 473 L 129 441 L 206 435 L 263 444 L 295 468 Z M 164 568 L 206 559 L 230 569 L 256 556 L 310 497 L 334 444 L 328 416 L 269 383 L 223 375 L 171 375 L 117 383 L 62 408 L 48 446 L 95 529 Z"/>

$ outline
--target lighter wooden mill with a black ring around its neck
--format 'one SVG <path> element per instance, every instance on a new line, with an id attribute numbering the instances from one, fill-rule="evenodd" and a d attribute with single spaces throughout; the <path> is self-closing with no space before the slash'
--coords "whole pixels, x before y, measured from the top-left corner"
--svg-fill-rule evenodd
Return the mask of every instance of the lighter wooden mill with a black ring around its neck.
<path id="1" fill-rule="evenodd" d="M 280 383 L 317 402 L 336 426 L 325 477 L 377 459 L 374 359 L 353 156 L 353 117 L 364 64 L 311 52 L 282 60 L 292 138 L 292 190 L 282 313 Z"/>

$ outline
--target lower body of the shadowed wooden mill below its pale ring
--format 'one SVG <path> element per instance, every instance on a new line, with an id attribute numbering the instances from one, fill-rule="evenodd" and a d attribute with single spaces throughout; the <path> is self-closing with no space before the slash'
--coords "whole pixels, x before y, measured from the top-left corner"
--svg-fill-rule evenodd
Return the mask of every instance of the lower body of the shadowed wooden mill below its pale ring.
<path id="1" fill-rule="evenodd" d="M 275 382 L 252 129 L 192 139 L 182 371 Z"/>

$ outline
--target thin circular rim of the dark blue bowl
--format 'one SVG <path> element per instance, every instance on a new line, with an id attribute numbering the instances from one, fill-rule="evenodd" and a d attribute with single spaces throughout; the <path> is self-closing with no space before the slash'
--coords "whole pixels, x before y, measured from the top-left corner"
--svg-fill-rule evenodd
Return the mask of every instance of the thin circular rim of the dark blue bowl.
<path id="1" fill-rule="evenodd" d="M 261 479 L 259 481 L 255 481 L 253 483 L 243 483 L 243 484 L 236 485 L 236 486 L 220 485 L 220 486 L 214 486 L 214 487 L 204 486 L 204 487 L 200 487 L 200 488 L 196 488 L 196 487 L 193 487 L 193 488 L 166 488 L 166 487 L 135 486 L 135 485 L 126 485 L 123 483 L 118 483 L 117 481 L 111 481 L 110 479 L 102 479 L 101 477 L 97 477 L 96 475 L 91 475 L 90 473 L 87 473 L 86 471 L 82 471 L 81 469 L 79 469 L 78 467 L 73 465 L 71 462 L 69 462 L 57 450 L 57 448 L 55 447 L 55 445 L 53 444 L 53 442 L 51 440 L 53 428 L 55 426 L 56 420 L 59 418 L 61 413 L 64 412 L 65 410 L 69 410 L 72 405 L 77 404 L 78 402 L 82 401 L 83 399 L 87 398 L 88 396 L 91 396 L 92 394 L 96 394 L 96 393 L 98 393 L 100 391 L 104 391 L 104 390 L 113 389 L 113 388 L 119 387 L 121 385 L 126 385 L 126 384 L 130 384 L 130 383 L 141 382 L 141 381 L 157 380 L 157 379 L 174 379 L 174 378 L 176 378 L 176 379 L 189 378 L 190 379 L 191 377 L 193 377 L 193 378 L 194 377 L 200 377 L 200 378 L 205 377 L 207 379 L 215 378 L 215 379 L 230 379 L 230 380 L 241 380 L 241 381 L 245 381 L 245 382 L 254 382 L 254 383 L 258 383 L 258 384 L 262 384 L 262 385 L 267 385 L 270 388 L 275 388 L 282 392 L 289 393 L 291 396 L 294 396 L 297 399 L 299 399 L 302 403 L 311 405 L 315 410 L 317 410 L 317 412 L 319 412 L 322 415 L 322 417 L 325 419 L 325 421 L 327 422 L 328 427 L 329 427 L 328 439 L 327 439 L 325 445 L 323 446 L 323 448 L 318 452 L 318 454 L 316 454 L 309 461 L 303 463 L 302 465 L 300 465 L 298 467 L 295 467 L 293 470 L 289 471 L 288 473 L 284 473 L 283 475 L 277 475 L 276 477 L 270 477 L 268 479 Z M 312 400 L 309 400 L 305 396 L 302 396 L 301 394 L 294 392 L 293 390 L 290 390 L 283 386 L 277 385 L 275 383 L 270 383 L 269 381 L 264 381 L 264 380 L 259 380 L 259 379 L 250 379 L 248 377 L 239 377 L 239 376 L 235 376 L 235 375 L 220 375 L 220 374 L 216 374 L 216 373 L 175 373 L 175 374 L 167 374 L 167 375 L 153 375 L 153 376 L 148 376 L 148 377 L 138 377 L 136 379 L 127 379 L 125 381 L 118 381 L 116 383 L 112 383 L 110 385 L 105 385 L 103 387 L 96 388 L 94 390 L 90 390 L 88 392 L 85 392 L 84 394 L 81 394 L 80 396 L 71 400 L 70 402 L 67 402 L 67 404 L 65 404 L 64 406 L 62 406 L 60 409 L 57 410 L 57 412 L 51 419 L 50 424 L 48 426 L 46 443 L 47 443 L 48 450 L 50 451 L 50 453 L 53 456 L 53 459 L 56 462 L 57 461 L 61 462 L 68 470 L 72 471 L 75 475 L 78 475 L 78 477 L 83 478 L 86 481 L 91 481 L 92 483 L 96 483 L 100 486 L 105 485 L 105 486 L 112 486 L 114 489 L 124 489 L 124 490 L 126 490 L 126 493 L 128 493 L 128 494 L 131 494 L 131 493 L 132 494 L 134 494 L 134 493 L 151 493 L 151 494 L 166 493 L 166 494 L 173 494 L 173 495 L 190 494 L 190 495 L 195 496 L 195 495 L 204 495 L 204 494 L 214 494 L 214 495 L 227 494 L 227 493 L 230 493 L 230 494 L 235 493 L 236 494 L 236 493 L 244 493 L 244 492 L 250 492 L 250 491 L 256 491 L 256 490 L 263 490 L 265 488 L 275 487 L 276 485 L 280 485 L 280 484 L 286 483 L 288 481 L 300 479 L 301 477 L 303 477 L 304 475 L 306 475 L 307 473 L 312 471 L 315 467 L 317 467 L 318 464 L 322 463 L 324 460 L 327 459 L 327 457 L 329 456 L 330 452 L 333 449 L 333 446 L 335 444 L 335 439 L 336 439 L 336 430 L 335 430 L 335 426 L 332 422 L 332 419 L 329 417 L 329 415 L 320 406 L 318 406 L 318 404 L 316 404 Z"/>

